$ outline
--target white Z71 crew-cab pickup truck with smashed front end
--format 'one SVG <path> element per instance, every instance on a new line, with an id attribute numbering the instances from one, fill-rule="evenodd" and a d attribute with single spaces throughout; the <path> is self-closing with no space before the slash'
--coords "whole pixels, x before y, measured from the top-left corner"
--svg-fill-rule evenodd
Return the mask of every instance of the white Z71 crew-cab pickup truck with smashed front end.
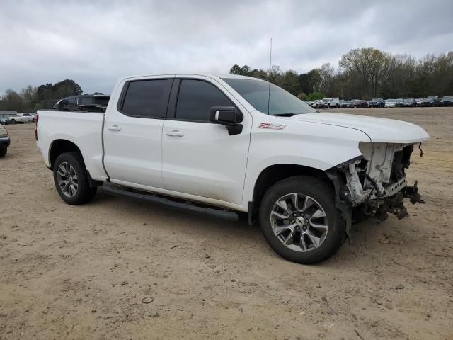
<path id="1" fill-rule="evenodd" d="M 38 111 L 38 148 L 61 198 L 98 186 L 248 213 L 270 246 L 298 263 L 340 249 L 352 222 L 403 218 L 421 201 L 405 171 L 411 123 L 318 113 L 267 81 L 172 74 L 117 82 L 105 113 Z"/>

